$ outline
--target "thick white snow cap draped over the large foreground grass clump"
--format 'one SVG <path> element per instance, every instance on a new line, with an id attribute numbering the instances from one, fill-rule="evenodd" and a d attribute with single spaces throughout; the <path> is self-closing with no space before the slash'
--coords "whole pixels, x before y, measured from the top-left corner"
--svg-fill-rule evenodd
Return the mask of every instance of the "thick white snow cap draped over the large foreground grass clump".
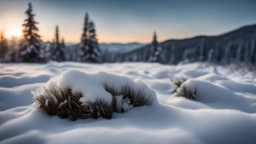
<path id="1" fill-rule="evenodd" d="M 69 69 L 61 73 L 58 78 L 51 78 L 46 83 L 46 89 L 52 89 L 54 87 L 67 88 L 70 87 L 75 92 L 82 92 L 85 95 L 80 99 L 81 102 L 95 102 L 97 98 L 104 99 L 106 102 L 112 102 L 112 95 L 106 91 L 104 84 L 115 87 L 116 90 L 121 90 L 122 86 L 130 86 L 135 90 L 143 90 L 145 94 L 151 98 L 156 99 L 156 93 L 153 89 L 147 86 L 146 83 L 140 79 L 129 79 L 126 76 L 118 76 L 108 72 L 96 72 L 96 73 L 86 73 L 78 71 L 75 69 Z M 39 92 L 46 93 L 43 87 L 33 94 L 38 94 Z"/>

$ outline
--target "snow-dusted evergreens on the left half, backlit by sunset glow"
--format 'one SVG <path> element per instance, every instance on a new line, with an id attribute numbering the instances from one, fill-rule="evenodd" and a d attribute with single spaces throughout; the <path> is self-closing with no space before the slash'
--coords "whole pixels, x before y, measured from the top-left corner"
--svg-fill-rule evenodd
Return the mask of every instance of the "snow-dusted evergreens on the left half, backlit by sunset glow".
<path id="1" fill-rule="evenodd" d="M 32 13 L 32 3 L 28 3 L 25 11 L 27 19 L 24 20 L 23 39 L 17 43 L 16 39 L 8 44 L 3 32 L 0 38 L 0 62 L 47 62 L 66 61 L 65 42 L 59 40 L 59 28 L 56 26 L 54 42 L 43 42 L 40 39 L 38 22 Z M 77 61 L 102 62 L 96 38 L 95 24 L 89 20 L 86 13 L 83 24 L 83 35 L 80 42 L 79 57 Z"/>

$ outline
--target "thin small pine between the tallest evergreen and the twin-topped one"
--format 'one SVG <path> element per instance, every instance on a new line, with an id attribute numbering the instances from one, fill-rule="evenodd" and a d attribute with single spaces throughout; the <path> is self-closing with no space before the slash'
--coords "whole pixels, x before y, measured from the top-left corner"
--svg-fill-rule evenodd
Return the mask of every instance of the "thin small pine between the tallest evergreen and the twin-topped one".
<path id="1" fill-rule="evenodd" d="M 55 31 L 55 43 L 54 43 L 54 53 L 52 56 L 52 59 L 55 61 L 65 61 L 65 51 L 64 47 L 59 42 L 59 31 L 58 31 L 58 25 L 56 26 Z"/>

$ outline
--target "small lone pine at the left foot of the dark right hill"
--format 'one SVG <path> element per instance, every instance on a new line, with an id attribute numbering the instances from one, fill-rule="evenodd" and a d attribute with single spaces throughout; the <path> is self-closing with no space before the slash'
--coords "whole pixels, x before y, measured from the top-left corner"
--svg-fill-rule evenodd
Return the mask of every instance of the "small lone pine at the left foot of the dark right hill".
<path id="1" fill-rule="evenodd" d="M 158 46 L 157 33 L 154 31 L 149 62 L 163 62 L 161 47 Z"/>

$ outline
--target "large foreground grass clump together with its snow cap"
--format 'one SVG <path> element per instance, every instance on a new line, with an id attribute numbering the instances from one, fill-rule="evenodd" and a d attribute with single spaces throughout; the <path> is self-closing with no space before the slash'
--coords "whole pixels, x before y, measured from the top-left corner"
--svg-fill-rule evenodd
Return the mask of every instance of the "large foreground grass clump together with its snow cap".
<path id="1" fill-rule="evenodd" d="M 156 93 L 139 79 L 129 79 L 107 72 L 63 72 L 46 86 L 33 91 L 35 103 L 50 116 L 61 118 L 111 119 L 112 114 L 124 113 L 143 105 L 151 105 Z"/>

